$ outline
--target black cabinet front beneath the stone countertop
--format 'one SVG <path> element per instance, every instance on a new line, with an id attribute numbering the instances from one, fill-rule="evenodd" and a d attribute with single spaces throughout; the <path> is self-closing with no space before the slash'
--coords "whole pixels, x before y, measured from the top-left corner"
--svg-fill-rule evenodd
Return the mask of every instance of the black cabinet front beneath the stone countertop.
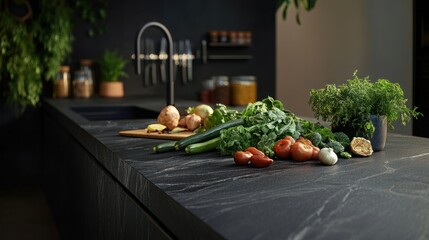
<path id="1" fill-rule="evenodd" d="M 61 239 L 171 239 L 99 162 L 44 114 L 43 184 Z"/>

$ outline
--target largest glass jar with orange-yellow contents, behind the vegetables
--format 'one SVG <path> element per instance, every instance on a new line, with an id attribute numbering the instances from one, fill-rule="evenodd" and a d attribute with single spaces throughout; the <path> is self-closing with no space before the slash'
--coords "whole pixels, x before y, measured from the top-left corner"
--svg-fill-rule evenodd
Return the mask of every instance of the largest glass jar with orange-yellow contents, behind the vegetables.
<path id="1" fill-rule="evenodd" d="M 257 88 L 255 76 L 235 76 L 231 78 L 231 104 L 235 106 L 256 102 Z"/>

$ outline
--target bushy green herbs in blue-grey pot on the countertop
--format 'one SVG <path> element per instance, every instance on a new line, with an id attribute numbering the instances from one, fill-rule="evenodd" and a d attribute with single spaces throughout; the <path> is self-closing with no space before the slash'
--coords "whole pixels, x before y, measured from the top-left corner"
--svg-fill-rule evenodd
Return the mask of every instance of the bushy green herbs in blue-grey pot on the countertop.
<path id="1" fill-rule="evenodd" d="M 374 151 L 384 149 L 387 127 L 401 119 L 406 125 L 421 113 L 408 108 L 407 99 L 398 83 L 387 79 L 371 82 L 369 77 L 353 79 L 339 86 L 327 84 L 324 88 L 310 91 L 309 104 L 317 119 L 331 123 L 335 131 L 349 137 L 360 136 L 371 140 Z"/>

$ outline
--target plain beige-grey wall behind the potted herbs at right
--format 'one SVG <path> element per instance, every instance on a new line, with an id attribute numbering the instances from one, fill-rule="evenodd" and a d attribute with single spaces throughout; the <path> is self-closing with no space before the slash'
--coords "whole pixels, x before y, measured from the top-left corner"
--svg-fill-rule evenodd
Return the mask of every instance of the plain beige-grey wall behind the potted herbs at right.
<path id="1" fill-rule="evenodd" d="M 276 97 L 286 108 L 313 117 L 309 92 L 343 83 L 355 70 L 375 81 L 398 82 L 412 100 L 412 1 L 319 0 L 301 11 L 291 7 L 284 21 L 277 13 Z M 395 125 L 411 134 L 411 123 Z"/>

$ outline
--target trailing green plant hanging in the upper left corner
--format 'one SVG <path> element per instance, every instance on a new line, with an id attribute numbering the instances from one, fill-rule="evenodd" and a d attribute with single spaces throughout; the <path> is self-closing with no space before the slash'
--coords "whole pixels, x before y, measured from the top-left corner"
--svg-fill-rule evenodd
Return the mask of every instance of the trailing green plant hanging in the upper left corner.
<path id="1" fill-rule="evenodd" d="M 38 105 L 72 51 L 76 16 L 89 23 L 88 35 L 102 33 L 104 1 L 0 1 L 0 98 L 7 106 L 23 113 Z"/>

